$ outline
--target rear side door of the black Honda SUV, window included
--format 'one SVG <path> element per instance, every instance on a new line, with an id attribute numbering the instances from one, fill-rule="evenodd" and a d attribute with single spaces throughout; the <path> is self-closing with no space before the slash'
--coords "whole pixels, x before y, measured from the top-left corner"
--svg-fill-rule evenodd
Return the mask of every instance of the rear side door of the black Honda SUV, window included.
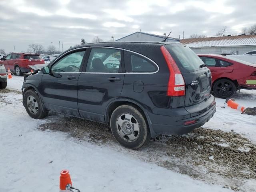
<path id="1" fill-rule="evenodd" d="M 78 79 L 78 108 L 83 118 L 104 122 L 108 104 L 121 94 L 124 82 L 123 51 L 91 48 Z"/>

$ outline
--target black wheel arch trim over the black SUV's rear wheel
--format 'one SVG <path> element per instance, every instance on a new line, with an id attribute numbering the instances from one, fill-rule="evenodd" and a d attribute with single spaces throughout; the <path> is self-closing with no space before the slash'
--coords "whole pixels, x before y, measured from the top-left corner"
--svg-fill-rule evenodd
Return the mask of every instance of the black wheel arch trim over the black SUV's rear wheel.
<path id="1" fill-rule="evenodd" d="M 130 99 L 117 99 L 117 100 L 114 100 L 114 101 L 110 102 L 108 104 L 108 106 L 106 107 L 105 122 L 107 124 L 109 124 L 110 118 L 111 118 L 111 115 L 112 115 L 113 111 L 117 107 L 119 107 L 121 105 L 124 105 L 124 104 L 128 104 L 128 105 L 134 106 L 135 108 L 137 108 L 142 113 L 142 116 L 144 116 L 144 118 L 146 118 L 146 122 L 148 124 L 151 137 L 155 138 L 157 136 L 157 134 L 156 134 L 156 132 L 154 132 L 154 130 L 152 128 L 152 123 L 151 123 L 151 120 L 150 120 L 150 118 L 148 116 L 147 110 L 141 104 L 139 104 L 138 102 L 136 102 L 134 100 L 130 100 Z"/>

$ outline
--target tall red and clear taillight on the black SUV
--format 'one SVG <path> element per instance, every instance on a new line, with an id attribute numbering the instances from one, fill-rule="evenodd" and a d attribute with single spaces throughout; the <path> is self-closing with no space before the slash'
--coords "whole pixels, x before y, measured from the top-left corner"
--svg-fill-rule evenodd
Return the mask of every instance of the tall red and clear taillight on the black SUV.
<path id="1" fill-rule="evenodd" d="M 185 82 L 184 78 L 178 68 L 176 62 L 172 58 L 171 54 L 164 47 L 160 47 L 164 59 L 169 68 L 170 76 L 167 88 L 167 96 L 184 96 L 185 95 Z"/>

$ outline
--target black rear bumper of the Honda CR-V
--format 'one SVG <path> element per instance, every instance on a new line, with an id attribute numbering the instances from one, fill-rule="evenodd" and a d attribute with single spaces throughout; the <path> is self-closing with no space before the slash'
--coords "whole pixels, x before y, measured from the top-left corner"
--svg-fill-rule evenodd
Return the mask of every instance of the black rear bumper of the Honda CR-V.
<path id="1" fill-rule="evenodd" d="M 194 130 L 195 128 L 198 128 L 202 125 L 204 125 L 206 122 L 212 118 L 214 113 L 216 112 L 216 102 L 214 101 L 214 104 L 210 109 L 208 109 L 206 112 L 198 115 L 193 116 L 191 118 L 186 118 L 182 120 L 176 120 L 173 122 L 174 125 L 170 124 L 151 124 L 151 127 L 153 131 L 159 135 L 159 134 L 174 134 L 174 135 L 182 135 L 187 134 Z M 157 118 L 156 116 L 154 118 Z M 178 117 L 177 117 L 178 118 Z M 184 125 L 184 122 L 195 120 L 196 122 L 191 125 Z"/>

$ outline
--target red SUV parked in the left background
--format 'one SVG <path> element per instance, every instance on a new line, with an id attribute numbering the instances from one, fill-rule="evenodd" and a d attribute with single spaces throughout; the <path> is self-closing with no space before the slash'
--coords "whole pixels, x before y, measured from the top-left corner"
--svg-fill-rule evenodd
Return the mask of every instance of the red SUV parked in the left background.
<path id="1" fill-rule="evenodd" d="M 1 58 L 0 62 L 4 64 L 6 70 L 10 68 L 10 71 L 15 72 L 17 76 L 30 72 L 30 66 L 44 64 L 44 60 L 39 57 L 39 54 L 30 53 L 11 53 L 5 58 Z"/>

